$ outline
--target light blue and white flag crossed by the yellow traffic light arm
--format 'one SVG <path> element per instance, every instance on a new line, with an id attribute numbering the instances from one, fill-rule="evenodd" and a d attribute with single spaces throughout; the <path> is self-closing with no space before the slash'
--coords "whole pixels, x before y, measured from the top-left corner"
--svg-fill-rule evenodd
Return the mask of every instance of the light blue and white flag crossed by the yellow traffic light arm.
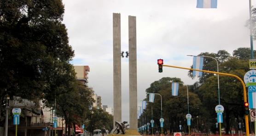
<path id="1" fill-rule="evenodd" d="M 204 57 L 197 57 L 193 58 L 193 69 L 203 70 L 204 65 Z M 202 76 L 202 72 L 200 71 L 193 71 L 193 76 Z"/>

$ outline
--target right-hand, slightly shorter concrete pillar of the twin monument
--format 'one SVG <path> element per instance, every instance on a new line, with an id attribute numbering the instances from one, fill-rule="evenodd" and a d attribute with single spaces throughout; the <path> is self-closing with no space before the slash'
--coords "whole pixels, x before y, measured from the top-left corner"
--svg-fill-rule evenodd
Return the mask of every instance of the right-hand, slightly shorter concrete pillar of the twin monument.
<path id="1" fill-rule="evenodd" d="M 137 44 L 136 16 L 128 16 L 130 129 L 137 130 Z"/>

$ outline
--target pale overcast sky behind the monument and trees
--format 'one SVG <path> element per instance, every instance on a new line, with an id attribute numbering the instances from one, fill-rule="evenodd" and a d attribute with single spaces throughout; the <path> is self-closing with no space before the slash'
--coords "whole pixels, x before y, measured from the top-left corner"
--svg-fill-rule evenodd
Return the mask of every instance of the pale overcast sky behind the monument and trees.
<path id="1" fill-rule="evenodd" d="M 255 1 L 255 0 L 252 0 Z M 121 48 L 128 51 L 128 16 L 137 21 L 138 106 L 145 89 L 162 77 L 179 77 L 193 84 L 188 71 L 164 64 L 190 67 L 201 52 L 250 47 L 249 0 L 218 0 L 217 9 L 198 9 L 197 0 L 63 0 L 63 23 L 75 50 L 74 65 L 89 65 L 89 87 L 113 107 L 112 13 L 121 13 Z M 256 3 L 253 2 L 252 5 Z M 128 59 L 122 58 L 122 121 L 129 121 Z"/>

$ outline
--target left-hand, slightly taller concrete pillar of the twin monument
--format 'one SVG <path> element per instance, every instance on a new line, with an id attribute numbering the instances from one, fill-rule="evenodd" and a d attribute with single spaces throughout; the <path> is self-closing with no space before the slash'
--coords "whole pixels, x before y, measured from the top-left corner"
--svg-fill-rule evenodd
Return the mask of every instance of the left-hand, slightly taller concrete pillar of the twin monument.
<path id="1" fill-rule="evenodd" d="M 115 121 L 122 121 L 121 96 L 121 22 L 120 13 L 113 13 L 113 115 Z"/>

